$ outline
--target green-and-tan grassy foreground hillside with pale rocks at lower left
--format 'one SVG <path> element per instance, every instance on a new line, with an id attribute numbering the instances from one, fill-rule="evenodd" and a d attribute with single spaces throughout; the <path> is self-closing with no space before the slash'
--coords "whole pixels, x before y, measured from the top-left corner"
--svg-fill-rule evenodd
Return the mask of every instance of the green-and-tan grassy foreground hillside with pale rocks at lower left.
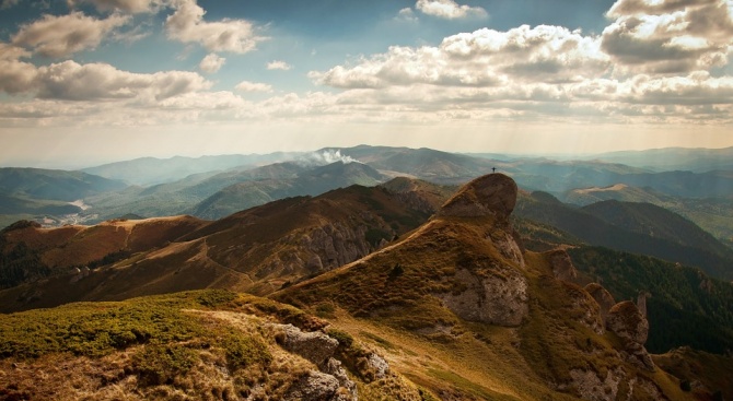
<path id="1" fill-rule="evenodd" d="M 0 398 L 431 399 L 361 341 L 326 326 L 223 291 L 0 315 Z"/>

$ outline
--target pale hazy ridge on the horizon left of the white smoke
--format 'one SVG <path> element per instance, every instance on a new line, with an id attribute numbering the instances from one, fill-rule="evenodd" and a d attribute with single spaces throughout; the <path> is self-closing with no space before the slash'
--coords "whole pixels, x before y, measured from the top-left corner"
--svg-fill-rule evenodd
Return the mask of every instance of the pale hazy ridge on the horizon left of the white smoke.
<path id="1" fill-rule="evenodd" d="M 82 172 L 106 178 L 119 179 L 131 185 L 149 186 L 173 182 L 190 175 L 221 172 L 234 167 L 249 168 L 296 158 L 299 153 L 232 154 L 201 157 L 175 156 L 171 158 L 142 157 L 89 167 Z"/>

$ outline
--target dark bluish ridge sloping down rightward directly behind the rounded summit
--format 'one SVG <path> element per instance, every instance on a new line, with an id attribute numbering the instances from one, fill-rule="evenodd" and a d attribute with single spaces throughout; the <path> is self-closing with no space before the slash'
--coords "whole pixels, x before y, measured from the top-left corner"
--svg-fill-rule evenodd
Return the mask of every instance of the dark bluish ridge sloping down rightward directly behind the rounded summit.
<path id="1" fill-rule="evenodd" d="M 635 215 L 643 213 L 641 208 L 654 212 L 645 215 L 644 220 L 635 220 Z M 678 216 L 671 219 L 671 212 L 653 205 L 638 207 L 628 203 L 625 208 L 608 208 L 608 211 L 612 214 L 616 212 L 616 215 L 602 214 L 601 208 L 591 208 L 587 211 L 578 209 L 563 204 L 547 193 L 535 192 L 520 198 L 515 214 L 557 227 L 586 244 L 650 255 L 698 267 L 714 278 L 733 279 L 733 257 L 730 249 L 689 221 Z M 627 215 L 629 211 L 633 211 L 633 214 Z M 592 212 L 597 212 L 601 216 Z M 641 224 L 647 224 L 648 227 L 642 229 Z"/>

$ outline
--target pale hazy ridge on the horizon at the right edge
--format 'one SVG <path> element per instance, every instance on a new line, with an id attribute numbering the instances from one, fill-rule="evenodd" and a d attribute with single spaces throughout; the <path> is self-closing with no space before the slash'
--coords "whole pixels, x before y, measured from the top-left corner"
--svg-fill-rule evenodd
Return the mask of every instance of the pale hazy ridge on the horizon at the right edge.
<path id="1" fill-rule="evenodd" d="M 592 156 L 594 160 L 620 163 L 628 166 L 664 170 L 696 173 L 733 170 L 733 148 L 685 149 L 667 148 L 647 151 L 610 152 Z"/>

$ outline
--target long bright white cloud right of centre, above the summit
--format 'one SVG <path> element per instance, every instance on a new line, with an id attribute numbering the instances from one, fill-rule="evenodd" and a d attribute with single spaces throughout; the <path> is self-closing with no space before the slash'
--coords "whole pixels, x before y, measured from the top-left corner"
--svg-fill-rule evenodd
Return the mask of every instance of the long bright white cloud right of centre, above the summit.
<path id="1" fill-rule="evenodd" d="M 578 81 L 609 67 L 596 38 L 558 26 L 479 30 L 446 37 L 440 46 L 391 47 L 386 54 L 311 72 L 317 83 L 342 89 L 431 84 L 498 86 L 523 82 Z"/>

